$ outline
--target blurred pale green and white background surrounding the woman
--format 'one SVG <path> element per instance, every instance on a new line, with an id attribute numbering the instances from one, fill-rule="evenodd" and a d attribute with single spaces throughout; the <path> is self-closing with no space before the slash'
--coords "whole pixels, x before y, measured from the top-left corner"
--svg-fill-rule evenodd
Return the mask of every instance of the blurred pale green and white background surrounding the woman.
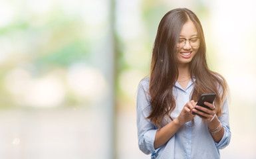
<path id="1" fill-rule="evenodd" d="M 150 158 L 138 149 L 136 89 L 177 7 L 199 17 L 209 68 L 229 84 L 221 158 L 256 158 L 253 0 L 0 1 L 0 158 Z"/>

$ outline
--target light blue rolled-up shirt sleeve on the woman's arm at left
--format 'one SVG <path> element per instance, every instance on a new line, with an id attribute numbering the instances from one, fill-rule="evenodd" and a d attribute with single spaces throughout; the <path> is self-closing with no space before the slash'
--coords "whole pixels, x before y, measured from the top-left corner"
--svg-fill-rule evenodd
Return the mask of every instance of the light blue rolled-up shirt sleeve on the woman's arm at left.
<path id="1" fill-rule="evenodd" d="M 137 128 L 138 128 L 138 146 L 145 154 L 152 154 L 156 152 L 154 149 L 154 140 L 156 136 L 155 126 L 149 119 L 151 106 L 148 101 L 148 82 L 145 79 L 140 82 L 137 92 Z"/>

